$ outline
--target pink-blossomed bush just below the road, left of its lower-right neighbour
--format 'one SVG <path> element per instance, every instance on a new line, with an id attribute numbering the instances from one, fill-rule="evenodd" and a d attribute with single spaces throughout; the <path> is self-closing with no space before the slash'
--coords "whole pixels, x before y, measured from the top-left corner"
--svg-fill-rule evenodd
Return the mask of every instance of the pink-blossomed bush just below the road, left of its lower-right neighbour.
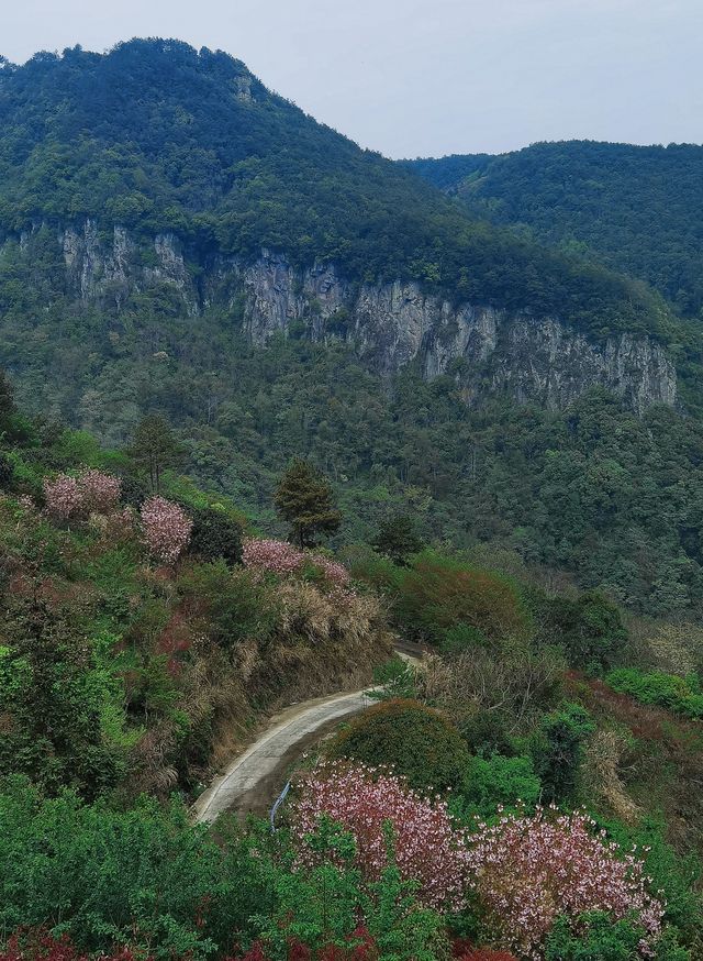
<path id="1" fill-rule="evenodd" d="M 306 836 L 327 815 L 354 836 L 357 866 L 377 880 L 387 865 L 383 825 L 390 821 L 398 869 L 403 879 L 419 882 L 422 903 L 437 910 L 464 907 L 464 832 L 454 828 L 439 798 L 422 797 L 387 771 L 346 762 L 317 764 L 299 776 L 297 788 L 292 831 L 300 866 L 319 863 Z"/>

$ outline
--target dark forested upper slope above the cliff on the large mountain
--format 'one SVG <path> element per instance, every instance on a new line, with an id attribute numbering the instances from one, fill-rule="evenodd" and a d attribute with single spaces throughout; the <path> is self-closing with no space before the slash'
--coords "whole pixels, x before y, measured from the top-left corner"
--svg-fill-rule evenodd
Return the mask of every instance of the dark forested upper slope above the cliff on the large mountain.
<path id="1" fill-rule="evenodd" d="M 224 53 L 132 41 L 0 71 L 0 229 L 93 218 L 215 251 L 334 262 L 457 300 L 563 317 L 600 335 L 667 311 L 641 285 L 468 217 L 420 178 L 316 123 Z"/>

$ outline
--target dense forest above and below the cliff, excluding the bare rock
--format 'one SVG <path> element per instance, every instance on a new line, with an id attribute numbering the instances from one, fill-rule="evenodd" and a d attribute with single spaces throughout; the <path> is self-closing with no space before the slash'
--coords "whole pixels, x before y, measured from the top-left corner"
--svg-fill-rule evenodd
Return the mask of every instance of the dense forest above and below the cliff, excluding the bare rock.
<path id="1" fill-rule="evenodd" d="M 700 609 L 703 454 L 684 412 L 639 420 L 598 390 L 561 412 L 470 408 L 454 376 L 425 383 L 411 366 L 381 379 L 353 344 L 313 343 L 304 325 L 256 350 L 241 300 L 193 321 L 166 283 L 81 302 L 56 230 L 86 217 L 152 240 L 174 230 L 196 280 L 214 252 L 246 258 L 268 244 L 357 280 L 558 311 L 598 336 L 654 331 L 695 412 L 698 340 L 640 281 L 471 219 L 222 53 L 135 41 L 38 54 L 3 66 L 0 117 L 0 363 L 27 410 L 112 445 L 163 413 L 189 474 L 274 533 L 272 478 L 303 454 L 349 508 L 338 544 L 393 507 L 437 539 L 517 551 L 636 611 Z"/>

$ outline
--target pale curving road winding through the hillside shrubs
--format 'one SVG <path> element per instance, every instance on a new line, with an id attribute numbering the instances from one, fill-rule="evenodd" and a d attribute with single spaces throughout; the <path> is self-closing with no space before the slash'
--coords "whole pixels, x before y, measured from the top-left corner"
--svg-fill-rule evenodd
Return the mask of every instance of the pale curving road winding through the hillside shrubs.
<path id="1" fill-rule="evenodd" d="M 417 644 L 398 644 L 397 652 L 410 662 L 417 663 L 422 658 Z M 317 697 L 276 715 L 260 738 L 200 795 L 192 808 L 194 820 L 211 822 L 225 810 L 236 810 L 241 817 L 249 811 L 266 815 L 284 786 L 291 765 L 345 717 L 375 704 L 369 697 L 371 691 Z"/>

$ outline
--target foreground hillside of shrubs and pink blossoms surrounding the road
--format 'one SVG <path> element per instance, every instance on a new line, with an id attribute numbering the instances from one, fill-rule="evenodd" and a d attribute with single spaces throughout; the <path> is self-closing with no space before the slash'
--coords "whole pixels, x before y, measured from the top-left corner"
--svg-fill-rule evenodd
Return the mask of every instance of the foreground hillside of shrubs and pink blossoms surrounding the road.
<path id="1" fill-rule="evenodd" d="M 506 553 L 263 540 L 0 398 L 3 961 L 700 957 L 695 623 Z M 269 785 L 276 832 L 192 822 L 267 715 L 373 665 Z"/>

